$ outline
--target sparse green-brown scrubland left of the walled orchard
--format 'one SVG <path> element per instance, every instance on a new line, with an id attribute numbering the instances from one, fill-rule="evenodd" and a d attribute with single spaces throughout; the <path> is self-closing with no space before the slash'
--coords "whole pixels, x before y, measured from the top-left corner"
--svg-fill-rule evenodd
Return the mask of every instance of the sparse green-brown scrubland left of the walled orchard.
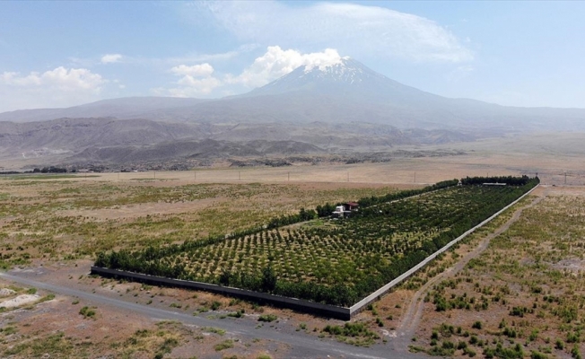
<path id="1" fill-rule="evenodd" d="M 189 184 L 56 180 L 56 175 L 3 180 L 0 267 L 25 266 L 33 258 L 48 261 L 94 258 L 100 250 L 160 246 L 185 239 L 205 239 L 261 225 L 299 206 L 380 196 L 394 188 L 307 189 L 301 185 Z M 91 176 L 90 176 L 91 177 Z M 282 201 L 280 198 L 293 198 Z M 144 213 L 127 218 L 110 216 L 124 206 L 147 203 L 195 203 L 214 198 L 195 212 Z M 204 202 L 205 203 L 205 202 Z M 106 211 L 106 212 L 104 212 Z M 100 212 L 106 214 L 105 220 Z M 96 215 L 98 214 L 98 215 Z M 26 233 L 26 234 L 25 234 Z M 83 239 L 83 241 L 80 241 Z M 19 249 L 20 248 L 20 249 Z"/>

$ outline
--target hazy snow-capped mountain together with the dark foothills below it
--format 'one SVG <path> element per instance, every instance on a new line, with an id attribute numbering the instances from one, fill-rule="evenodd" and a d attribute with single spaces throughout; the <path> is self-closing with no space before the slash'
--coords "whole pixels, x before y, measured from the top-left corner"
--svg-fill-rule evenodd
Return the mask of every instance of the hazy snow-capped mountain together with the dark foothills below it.
<path id="1" fill-rule="evenodd" d="M 166 156 L 188 156 L 200 153 L 197 148 L 205 140 L 239 143 L 242 155 L 266 155 L 249 143 L 269 141 L 272 149 L 267 153 L 272 154 L 279 153 L 277 142 L 283 144 L 282 153 L 291 148 L 293 153 L 302 153 L 303 148 L 314 153 L 577 130 L 585 128 L 585 109 L 512 108 L 444 98 L 342 57 L 300 66 L 251 92 L 218 100 L 122 98 L 67 109 L 4 112 L 0 121 L 12 121 L 0 122 L 4 153 L 83 153 L 80 158 L 117 161 L 153 156 L 154 144 L 163 146 Z M 185 149 L 170 145 L 175 142 Z M 291 147 L 292 143 L 299 144 Z M 237 146 L 220 147 L 214 143 L 201 148 L 238 153 Z"/>

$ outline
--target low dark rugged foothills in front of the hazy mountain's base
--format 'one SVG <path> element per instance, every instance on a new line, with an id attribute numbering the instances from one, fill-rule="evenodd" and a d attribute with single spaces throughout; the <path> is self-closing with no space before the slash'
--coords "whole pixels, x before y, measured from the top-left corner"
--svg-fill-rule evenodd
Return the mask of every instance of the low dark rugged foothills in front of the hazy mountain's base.
<path id="1" fill-rule="evenodd" d="M 423 143 L 418 136 L 416 144 Z M 396 127 L 368 123 L 170 123 L 148 119 L 58 118 L 0 122 L 0 159 L 146 162 L 173 158 L 379 151 L 413 144 Z"/>

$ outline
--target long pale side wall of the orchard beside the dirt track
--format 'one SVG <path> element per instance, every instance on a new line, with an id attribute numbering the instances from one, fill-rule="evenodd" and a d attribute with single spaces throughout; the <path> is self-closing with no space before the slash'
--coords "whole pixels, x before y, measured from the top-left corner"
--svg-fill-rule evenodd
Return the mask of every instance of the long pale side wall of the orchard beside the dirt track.
<path id="1" fill-rule="evenodd" d="M 457 244 L 458 241 L 463 240 L 469 234 L 475 232 L 478 228 L 484 226 L 486 223 L 489 223 L 490 221 L 493 220 L 493 218 L 497 217 L 498 215 L 502 215 L 502 212 L 506 211 L 511 206 L 516 205 L 518 202 L 520 202 L 520 200 L 522 198 L 527 197 L 530 193 L 532 193 L 535 189 L 537 189 L 538 186 L 540 186 L 540 184 L 537 184 L 535 187 L 533 187 L 530 190 L 528 190 L 528 192 L 526 192 L 525 194 L 523 194 L 522 196 L 518 197 L 516 200 L 514 200 L 513 202 L 511 202 L 510 205 L 503 207 L 501 210 L 499 210 L 495 214 L 491 215 L 489 218 L 485 219 L 485 221 L 483 221 L 482 223 L 477 224 L 475 227 L 467 230 L 467 232 L 464 232 L 463 234 L 461 234 L 460 236 L 458 236 L 453 241 L 450 241 L 449 243 L 445 244 L 441 248 L 441 250 L 437 250 L 436 252 L 432 253 L 432 255 L 430 255 L 429 257 L 424 258 L 422 262 L 420 262 L 419 264 L 417 264 L 415 267 L 412 267 L 412 268 L 408 269 L 402 275 L 397 276 L 397 278 L 395 278 L 392 281 L 390 281 L 387 285 L 384 285 L 384 286 L 380 287 L 380 289 L 378 289 L 374 293 L 371 293 L 367 297 L 363 298 L 360 302 L 356 302 L 354 305 L 352 305 L 349 308 L 349 315 L 350 315 L 350 317 L 353 317 L 354 314 L 357 314 L 360 311 L 362 311 L 371 302 L 374 302 L 374 301 L 378 300 L 381 295 L 383 295 L 385 293 L 388 293 L 390 289 L 392 289 L 394 286 L 398 285 L 400 282 L 404 281 L 409 276 L 414 275 L 416 271 L 418 271 L 419 269 L 421 269 L 424 266 L 426 266 L 427 264 L 429 264 L 429 262 L 431 262 L 432 259 L 437 258 L 437 256 L 439 256 L 441 253 L 445 252 L 446 250 L 449 250 L 453 245 Z"/>

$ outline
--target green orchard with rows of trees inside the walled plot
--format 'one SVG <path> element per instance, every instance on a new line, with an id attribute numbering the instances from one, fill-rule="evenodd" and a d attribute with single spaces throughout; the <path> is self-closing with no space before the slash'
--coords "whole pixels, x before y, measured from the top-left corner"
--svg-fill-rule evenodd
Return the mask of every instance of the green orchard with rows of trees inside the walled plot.
<path id="1" fill-rule="evenodd" d="M 345 220 L 100 253 L 96 266 L 349 306 L 536 184 L 444 188 Z"/>

